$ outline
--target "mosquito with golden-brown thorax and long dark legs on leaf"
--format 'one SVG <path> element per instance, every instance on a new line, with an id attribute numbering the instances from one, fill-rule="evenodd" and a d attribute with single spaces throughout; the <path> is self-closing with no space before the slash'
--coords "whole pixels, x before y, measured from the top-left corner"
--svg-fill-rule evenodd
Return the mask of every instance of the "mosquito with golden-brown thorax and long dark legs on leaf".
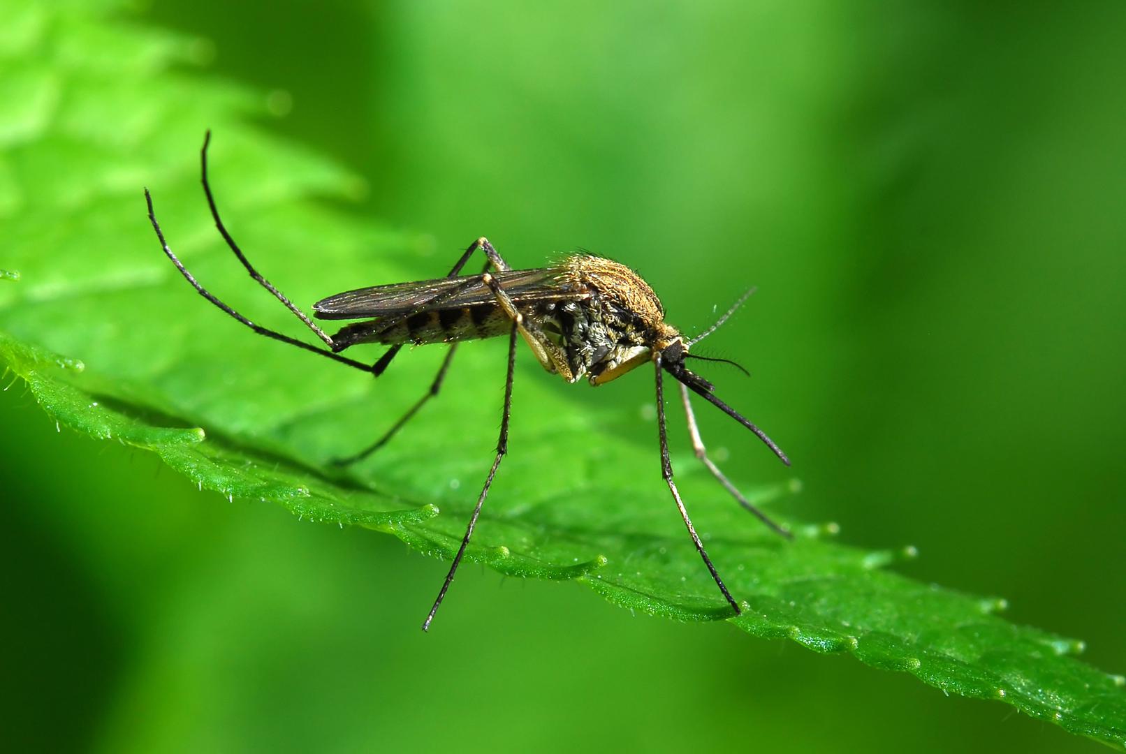
<path id="1" fill-rule="evenodd" d="M 316 302 L 313 304 L 313 314 L 319 320 L 358 320 L 358 322 L 345 325 L 336 334 L 329 335 L 258 272 L 226 230 L 226 225 L 220 217 L 215 196 L 207 178 L 207 147 L 209 144 L 211 132 L 208 131 L 204 137 L 199 162 L 204 196 L 207 198 L 215 227 L 250 273 L 250 277 L 301 320 L 324 343 L 324 347 L 307 343 L 256 324 L 204 288 L 169 248 L 160 223 L 157 222 L 152 196 L 149 194 L 149 189 L 145 189 L 149 221 L 152 223 L 164 254 L 200 296 L 260 335 L 312 351 L 366 371 L 374 377 L 384 372 L 406 343 L 418 345 L 449 343 L 446 358 L 438 368 L 438 374 L 430 384 L 430 388 L 422 397 L 375 442 L 359 452 L 334 463 L 354 464 L 386 445 L 427 401 L 441 389 L 443 380 L 446 378 L 461 341 L 508 336 L 508 372 L 504 379 L 504 402 L 501 411 L 500 437 L 497 440 L 497 455 L 485 477 L 484 485 L 481 487 L 481 493 L 477 495 L 476 505 L 470 517 L 465 536 L 462 537 L 462 544 L 454 556 L 449 573 L 446 574 L 446 580 L 434 601 L 434 607 L 430 608 L 430 613 L 422 623 L 423 631 L 429 630 L 430 622 L 437 614 L 438 608 L 454 581 L 454 574 L 457 572 L 457 566 L 461 564 L 465 548 L 473 536 L 481 508 L 484 505 L 485 497 L 489 496 L 489 487 L 492 486 L 501 460 L 508 454 L 508 427 L 512 407 L 512 376 L 516 369 L 518 336 L 528 344 L 544 369 L 558 375 L 568 383 L 575 383 L 586 377 L 593 386 L 605 385 L 645 362 L 653 365 L 656 385 L 658 438 L 661 446 L 661 475 L 672 494 L 677 510 L 680 511 L 680 518 L 683 519 L 688 535 L 696 546 L 696 551 L 699 553 L 712 574 L 712 580 L 720 587 L 720 592 L 723 593 L 734 613 L 741 614 L 742 610 L 739 603 L 727 591 L 723 578 L 720 577 L 718 571 L 704 548 L 704 542 L 696 533 L 696 527 L 692 526 L 688 510 L 677 490 L 677 484 L 673 482 L 665 431 L 662 378 L 663 374 L 668 372 L 679 384 L 680 400 L 696 457 L 740 505 L 758 517 L 772 531 L 790 538 L 790 533 L 785 528 L 775 523 L 766 513 L 750 503 L 708 458 L 696 424 L 696 416 L 689 403 L 689 392 L 700 396 L 753 432 L 784 464 L 789 466 L 786 454 L 762 430 L 720 400 L 714 393 L 712 383 L 686 366 L 686 361 L 689 359 L 725 361 L 725 359 L 690 353 L 689 349 L 723 325 L 753 293 L 753 289 L 743 294 L 715 324 L 699 335 L 689 339 L 664 321 L 664 309 L 656 294 L 640 275 L 625 264 L 580 253 L 566 257 L 551 267 L 513 270 L 489 240 L 482 236 L 468 245 L 444 278 L 357 288 Z M 485 257 L 481 272 L 479 275 L 459 275 L 462 268 L 479 252 Z M 357 361 L 341 354 L 341 351 L 360 343 L 382 343 L 390 345 L 390 348 L 374 363 Z M 739 368 L 742 369 L 742 367 Z"/>

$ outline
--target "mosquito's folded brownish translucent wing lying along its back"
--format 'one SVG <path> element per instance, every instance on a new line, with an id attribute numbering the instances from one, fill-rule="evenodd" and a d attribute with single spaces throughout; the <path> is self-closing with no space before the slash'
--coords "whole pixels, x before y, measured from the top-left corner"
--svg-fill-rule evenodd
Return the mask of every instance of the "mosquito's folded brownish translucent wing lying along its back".
<path id="1" fill-rule="evenodd" d="M 575 291 L 560 284 L 556 268 L 508 270 L 493 272 L 492 276 L 517 304 L 577 296 Z M 584 298 L 586 295 L 579 297 Z M 467 275 L 347 290 L 316 302 L 313 312 L 321 320 L 359 320 L 477 306 L 495 300 L 480 276 Z"/>

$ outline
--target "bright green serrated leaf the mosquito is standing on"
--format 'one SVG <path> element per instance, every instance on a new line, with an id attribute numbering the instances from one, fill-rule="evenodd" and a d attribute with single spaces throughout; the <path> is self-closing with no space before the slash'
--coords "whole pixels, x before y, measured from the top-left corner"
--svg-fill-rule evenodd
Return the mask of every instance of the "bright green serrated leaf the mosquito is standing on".
<path id="1" fill-rule="evenodd" d="M 200 488 L 452 557 L 495 442 L 503 343 L 463 348 L 440 397 L 368 461 L 336 470 L 330 459 L 363 447 L 418 398 L 443 348 L 403 353 L 375 383 L 254 336 L 168 263 L 141 187 L 151 188 L 172 248 L 204 285 L 295 334 L 300 323 L 247 279 L 211 224 L 196 173 L 205 128 L 215 133 L 213 179 L 229 226 L 292 299 L 435 277 L 454 254 L 315 201 L 363 186 L 248 127 L 248 115 L 266 111 L 262 97 L 182 73 L 190 41 L 81 8 L 65 18 L 25 2 L 0 11 L 0 88 L 15 104 L 0 111 L 8 239 L 0 262 L 23 272 L 0 288 L 0 359 L 60 427 L 152 450 Z M 649 613 L 726 618 L 661 483 L 652 415 L 642 403 L 583 410 L 573 391 L 537 369 L 521 357 L 511 454 L 466 558 L 513 576 L 578 580 Z M 640 372 L 632 379 L 649 379 Z M 602 391 L 632 395 L 617 384 Z M 739 452 L 762 452 L 752 446 Z M 735 626 L 850 652 L 947 693 L 1001 700 L 1124 745 L 1123 679 L 1075 659 L 1082 643 L 1008 623 L 993 614 L 1003 600 L 885 568 L 910 549 L 841 546 L 826 539 L 832 527 L 792 520 L 796 540 L 783 541 L 734 505 L 685 447 L 673 464 L 688 505 L 745 601 L 742 617 L 726 618 Z M 738 476 L 735 464 L 730 470 Z M 778 514 L 790 486 L 750 496 Z"/>

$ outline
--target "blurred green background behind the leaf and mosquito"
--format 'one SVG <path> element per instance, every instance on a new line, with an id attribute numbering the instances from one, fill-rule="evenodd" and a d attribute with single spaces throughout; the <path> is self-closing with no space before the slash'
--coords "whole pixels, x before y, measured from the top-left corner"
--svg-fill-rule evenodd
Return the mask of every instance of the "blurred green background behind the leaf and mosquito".
<path id="1" fill-rule="evenodd" d="M 795 460 L 787 510 L 914 545 L 902 571 L 1002 595 L 1126 671 L 1126 6 L 208 1 L 126 20 L 211 41 L 200 75 L 274 92 L 286 115 L 265 128 L 366 178 L 347 212 L 437 250 L 485 233 L 518 267 L 611 255 L 689 331 L 758 286 L 709 344 L 752 371 L 726 378 L 732 402 Z M 614 389 L 570 388 L 574 410 L 652 386 Z M 9 740 L 1097 746 L 849 657 L 475 566 L 423 636 L 444 564 L 200 495 L 151 455 L 56 433 L 17 388 L 0 412 Z M 743 476 L 785 478 L 705 422 Z"/>

